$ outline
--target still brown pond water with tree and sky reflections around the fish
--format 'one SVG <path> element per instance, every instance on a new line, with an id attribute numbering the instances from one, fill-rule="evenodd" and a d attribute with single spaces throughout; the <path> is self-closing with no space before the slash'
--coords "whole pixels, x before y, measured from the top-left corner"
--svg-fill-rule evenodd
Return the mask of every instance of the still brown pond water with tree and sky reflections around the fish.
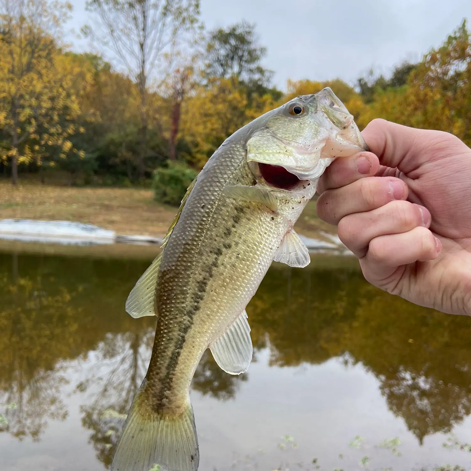
<path id="1" fill-rule="evenodd" d="M 109 468 L 152 348 L 155 319 L 124 310 L 146 250 L 0 252 L 1 471 Z M 201 471 L 471 469 L 470 318 L 327 255 L 274 264 L 247 313 L 248 372 L 207 352 L 195 374 Z"/>

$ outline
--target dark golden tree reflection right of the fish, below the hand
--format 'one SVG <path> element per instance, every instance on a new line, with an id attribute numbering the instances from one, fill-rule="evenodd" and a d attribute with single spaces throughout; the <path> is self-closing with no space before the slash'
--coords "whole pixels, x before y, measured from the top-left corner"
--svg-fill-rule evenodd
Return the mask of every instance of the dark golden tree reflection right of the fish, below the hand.
<path id="1" fill-rule="evenodd" d="M 307 275 L 291 271 L 289 309 L 278 313 L 285 282 L 274 270 L 247 309 L 252 332 L 268 333 L 272 364 L 318 364 L 345 355 L 347 364 L 362 363 L 419 443 L 471 413 L 469 317 L 415 306 L 348 269 L 311 272 L 306 302 Z"/>

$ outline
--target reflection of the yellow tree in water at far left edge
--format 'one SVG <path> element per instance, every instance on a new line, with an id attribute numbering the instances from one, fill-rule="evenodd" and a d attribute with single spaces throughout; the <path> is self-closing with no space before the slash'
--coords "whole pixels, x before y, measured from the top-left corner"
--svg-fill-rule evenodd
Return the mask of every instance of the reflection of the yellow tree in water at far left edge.
<path id="1" fill-rule="evenodd" d="M 41 276 L 0 274 L 0 431 L 39 441 L 50 419 L 64 420 L 64 344 L 74 345 L 73 292 Z"/>

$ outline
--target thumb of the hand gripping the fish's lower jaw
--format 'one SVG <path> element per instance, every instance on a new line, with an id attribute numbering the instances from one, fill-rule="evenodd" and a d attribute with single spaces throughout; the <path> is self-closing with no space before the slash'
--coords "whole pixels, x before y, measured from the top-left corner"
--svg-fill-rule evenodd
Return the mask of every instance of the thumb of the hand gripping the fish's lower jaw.
<path id="1" fill-rule="evenodd" d="M 381 165 L 409 173 L 430 161 L 424 149 L 440 131 L 414 129 L 383 119 L 374 119 L 362 131 L 370 151 Z"/>

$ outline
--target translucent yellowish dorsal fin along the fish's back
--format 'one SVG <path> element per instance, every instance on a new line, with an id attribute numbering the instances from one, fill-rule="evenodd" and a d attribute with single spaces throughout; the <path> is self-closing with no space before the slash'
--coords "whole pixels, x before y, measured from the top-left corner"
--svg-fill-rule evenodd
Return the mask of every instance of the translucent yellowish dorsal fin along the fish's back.
<path id="1" fill-rule="evenodd" d="M 144 274 L 138 279 L 138 282 L 132 288 L 129 293 L 128 299 L 126 300 L 126 312 L 131 317 L 143 317 L 143 316 L 157 316 L 157 308 L 154 303 L 155 290 L 157 289 L 157 276 L 159 275 L 160 261 L 162 260 L 162 253 L 170 239 L 173 229 L 177 225 L 180 218 L 181 211 L 185 203 L 187 202 L 188 195 L 191 193 L 193 187 L 195 187 L 196 177 L 187 189 L 187 193 L 183 196 L 181 204 L 173 222 L 171 223 L 167 234 L 162 240 L 162 251 L 157 255 L 151 266 L 146 269 Z"/>

